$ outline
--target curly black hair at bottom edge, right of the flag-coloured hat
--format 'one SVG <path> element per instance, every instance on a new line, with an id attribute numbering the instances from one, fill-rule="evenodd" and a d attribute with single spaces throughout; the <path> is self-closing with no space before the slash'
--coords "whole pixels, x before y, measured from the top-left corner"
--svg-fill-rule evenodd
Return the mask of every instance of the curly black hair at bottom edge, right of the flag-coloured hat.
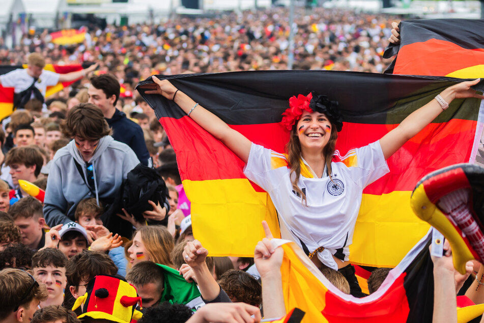
<path id="1" fill-rule="evenodd" d="M 185 305 L 163 302 L 148 308 L 138 323 L 184 323 L 192 314 L 191 309 Z"/>

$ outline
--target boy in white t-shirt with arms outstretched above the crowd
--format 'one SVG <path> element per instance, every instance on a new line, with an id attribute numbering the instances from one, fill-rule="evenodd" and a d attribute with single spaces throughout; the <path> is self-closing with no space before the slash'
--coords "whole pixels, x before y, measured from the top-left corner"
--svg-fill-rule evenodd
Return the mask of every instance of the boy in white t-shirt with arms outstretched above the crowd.
<path id="1" fill-rule="evenodd" d="M 66 74 L 46 71 L 45 60 L 39 53 L 31 53 L 27 58 L 27 68 L 19 68 L 7 74 L 0 75 L 0 85 L 6 88 L 15 88 L 15 107 L 23 107 L 31 98 L 44 102 L 45 91 L 48 86 L 54 86 L 62 82 L 70 82 L 86 76 L 94 71 L 97 64 L 90 67 Z"/>

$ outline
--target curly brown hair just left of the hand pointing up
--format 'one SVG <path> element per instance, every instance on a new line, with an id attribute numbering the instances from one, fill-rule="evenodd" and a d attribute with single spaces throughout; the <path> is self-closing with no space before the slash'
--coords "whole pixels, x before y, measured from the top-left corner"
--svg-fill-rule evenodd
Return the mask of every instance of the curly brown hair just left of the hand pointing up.
<path id="1" fill-rule="evenodd" d="M 220 275 L 218 284 L 232 302 L 244 302 L 259 306 L 262 302 L 262 286 L 244 271 L 229 270 Z"/>

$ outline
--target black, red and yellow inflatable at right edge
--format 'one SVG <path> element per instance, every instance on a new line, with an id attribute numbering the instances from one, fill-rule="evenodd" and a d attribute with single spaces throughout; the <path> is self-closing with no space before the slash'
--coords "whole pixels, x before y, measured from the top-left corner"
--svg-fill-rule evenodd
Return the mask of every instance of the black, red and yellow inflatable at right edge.
<path id="1" fill-rule="evenodd" d="M 459 273 L 468 260 L 484 261 L 484 168 L 457 164 L 432 172 L 417 183 L 410 203 L 449 240 Z"/>

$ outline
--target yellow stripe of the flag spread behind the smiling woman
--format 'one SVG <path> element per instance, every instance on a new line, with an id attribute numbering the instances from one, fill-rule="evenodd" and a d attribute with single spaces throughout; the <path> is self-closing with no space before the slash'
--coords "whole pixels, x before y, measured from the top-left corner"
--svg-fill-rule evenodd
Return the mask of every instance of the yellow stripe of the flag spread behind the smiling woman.
<path id="1" fill-rule="evenodd" d="M 247 179 L 184 180 L 183 186 L 191 201 L 194 236 L 210 250 L 210 255 L 225 256 L 220 248 L 223 242 L 240 247 L 240 252 L 231 253 L 233 256 L 252 255 L 255 245 L 264 237 L 263 220 L 269 223 L 275 237 L 280 236 L 269 195 L 255 192 Z M 350 261 L 394 267 L 425 235 L 429 225 L 415 217 L 410 209 L 410 195 L 411 192 L 395 191 L 379 199 L 378 195 L 363 194 Z M 397 212 L 386 212 L 395 204 L 401 205 Z M 213 241 L 215 235 L 217 243 Z"/>

